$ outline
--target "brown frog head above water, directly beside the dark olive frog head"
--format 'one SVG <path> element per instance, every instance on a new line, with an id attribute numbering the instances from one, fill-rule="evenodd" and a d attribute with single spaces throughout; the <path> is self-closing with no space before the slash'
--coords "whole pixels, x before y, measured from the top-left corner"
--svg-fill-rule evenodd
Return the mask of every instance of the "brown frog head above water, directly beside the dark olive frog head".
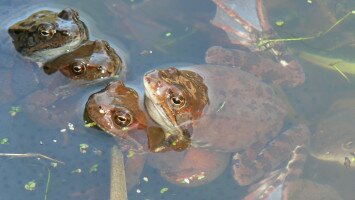
<path id="1" fill-rule="evenodd" d="M 124 75 L 126 67 L 108 42 L 95 40 L 45 63 L 43 70 L 49 75 L 59 70 L 70 79 L 92 81 Z"/>

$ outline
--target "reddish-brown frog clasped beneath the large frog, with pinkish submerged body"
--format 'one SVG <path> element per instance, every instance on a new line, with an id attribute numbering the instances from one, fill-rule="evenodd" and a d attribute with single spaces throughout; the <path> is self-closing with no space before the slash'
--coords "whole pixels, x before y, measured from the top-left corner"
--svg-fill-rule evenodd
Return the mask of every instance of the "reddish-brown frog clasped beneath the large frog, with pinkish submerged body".
<path id="1" fill-rule="evenodd" d="M 129 189 L 138 184 L 146 160 L 166 180 L 185 187 L 211 182 L 227 166 L 229 155 L 225 153 L 198 148 L 172 151 L 162 129 L 147 117 L 142 98 L 122 82 L 112 82 L 92 94 L 86 113 L 98 127 L 114 136 L 124 151 L 135 152 L 125 163 Z"/>

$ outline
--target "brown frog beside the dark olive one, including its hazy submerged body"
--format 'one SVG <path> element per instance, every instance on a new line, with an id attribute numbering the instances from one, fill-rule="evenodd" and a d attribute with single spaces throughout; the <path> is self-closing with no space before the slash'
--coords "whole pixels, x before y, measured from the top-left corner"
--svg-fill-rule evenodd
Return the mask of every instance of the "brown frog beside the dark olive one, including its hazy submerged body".
<path id="1" fill-rule="evenodd" d="M 86 101 L 91 89 L 112 79 L 123 80 L 126 66 L 108 42 L 96 40 L 46 62 L 38 71 L 40 86 L 22 101 L 24 111 L 43 127 L 63 127 L 84 110 L 73 101 Z"/>

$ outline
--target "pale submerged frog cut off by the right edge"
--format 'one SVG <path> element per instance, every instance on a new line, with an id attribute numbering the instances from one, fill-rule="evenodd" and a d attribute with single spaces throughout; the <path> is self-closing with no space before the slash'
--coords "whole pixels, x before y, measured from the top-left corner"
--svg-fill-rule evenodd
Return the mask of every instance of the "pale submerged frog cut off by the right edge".
<path id="1" fill-rule="evenodd" d="M 335 102 L 318 123 L 310 151 L 318 159 L 355 168 L 355 99 Z"/>

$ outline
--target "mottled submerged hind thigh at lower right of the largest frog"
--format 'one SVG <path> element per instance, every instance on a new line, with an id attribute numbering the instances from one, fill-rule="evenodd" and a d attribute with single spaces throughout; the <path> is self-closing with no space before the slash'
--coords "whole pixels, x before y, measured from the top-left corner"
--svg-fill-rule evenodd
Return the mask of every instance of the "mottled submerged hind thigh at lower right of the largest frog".
<path id="1" fill-rule="evenodd" d="M 233 157 L 234 179 L 240 185 L 250 185 L 262 179 L 266 174 L 276 170 L 280 165 L 290 159 L 296 146 L 307 145 L 309 142 L 309 129 L 305 125 L 294 126 L 282 132 L 269 142 L 264 149 L 250 153 L 255 148 L 252 145 L 247 151 L 237 153 Z"/>

